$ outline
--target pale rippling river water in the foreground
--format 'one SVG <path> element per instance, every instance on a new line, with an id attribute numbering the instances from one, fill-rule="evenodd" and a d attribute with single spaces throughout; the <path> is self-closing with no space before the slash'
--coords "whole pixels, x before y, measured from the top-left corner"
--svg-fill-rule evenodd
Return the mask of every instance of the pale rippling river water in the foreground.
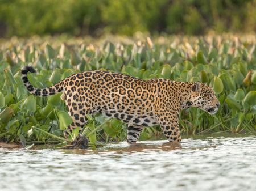
<path id="1" fill-rule="evenodd" d="M 256 190 L 256 136 L 1 150 L 0 190 Z"/>

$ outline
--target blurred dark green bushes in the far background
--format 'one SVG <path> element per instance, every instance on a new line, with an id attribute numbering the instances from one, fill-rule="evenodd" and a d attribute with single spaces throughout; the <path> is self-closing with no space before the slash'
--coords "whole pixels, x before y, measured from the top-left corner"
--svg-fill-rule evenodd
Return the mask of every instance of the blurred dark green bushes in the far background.
<path id="1" fill-rule="evenodd" d="M 256 0 L 1 0 L 0 36 L 256 32 Z"/>

